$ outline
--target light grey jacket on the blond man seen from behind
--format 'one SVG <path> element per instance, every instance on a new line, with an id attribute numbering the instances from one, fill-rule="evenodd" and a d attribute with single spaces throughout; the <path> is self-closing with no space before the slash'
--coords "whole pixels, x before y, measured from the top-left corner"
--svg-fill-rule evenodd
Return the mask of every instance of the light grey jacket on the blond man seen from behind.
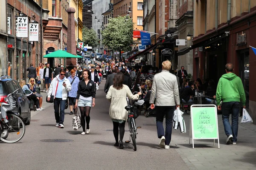
<path id="1" fill-rule="evenodd" d="M 163 70 L 154 76 L 149 103 L 156 106 L 175 106 L 180 105 L 179 87 L 177 77 Z"/>

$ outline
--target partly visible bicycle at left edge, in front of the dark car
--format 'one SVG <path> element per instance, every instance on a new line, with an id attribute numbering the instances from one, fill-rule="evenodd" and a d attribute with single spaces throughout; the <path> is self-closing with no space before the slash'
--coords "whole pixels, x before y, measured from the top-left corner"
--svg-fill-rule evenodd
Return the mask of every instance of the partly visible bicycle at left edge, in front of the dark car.
<path id="1" fill-rule="evenodd" d="M 0 140 L 6 143 L 18 142 L 25 134 L 23 118 L 12 112 L 17 107 L 13 94 L 9 94 L 1 103 L 0 112 Z"/>

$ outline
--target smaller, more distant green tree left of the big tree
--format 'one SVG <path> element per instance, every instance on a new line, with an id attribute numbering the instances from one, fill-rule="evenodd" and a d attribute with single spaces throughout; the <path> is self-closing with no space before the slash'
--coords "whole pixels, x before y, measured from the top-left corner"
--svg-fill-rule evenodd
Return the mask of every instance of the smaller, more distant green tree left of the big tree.
<path id="1" fill-rule="evenodd" d="M 88 44 L 92 48 L 97 47 L 99 45 L 99 40 L 96 31 L 92 28 L 84 27 L 82 29 L 82 41 L 84 44 Z"/>

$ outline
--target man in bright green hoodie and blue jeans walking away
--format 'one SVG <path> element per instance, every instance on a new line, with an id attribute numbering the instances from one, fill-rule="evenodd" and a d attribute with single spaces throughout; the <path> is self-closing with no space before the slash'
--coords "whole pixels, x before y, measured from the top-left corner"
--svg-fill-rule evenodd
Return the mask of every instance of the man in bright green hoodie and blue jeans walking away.
<path id="1" fill-rule="evenodd" d="M 233 73 L 234 66 L 232 63 L 227 63 L 225 66 L 226 73 L 221 76 L 218 82 L 216 91 L 216 100 L 218 110 L 222 108 L 222 121 L 224 130 L 227 135 L 227 144 L 236 144 L 236 137 L 238 133 L 238 117 L 239 105 L 242 102 L 245 108 L 245 94 L 244 86 L 236 74 Z M 220 105 L 222 99 L 222 106 Z M 232 126 L 230 126 L 229 116 L 232 113 Z"/>

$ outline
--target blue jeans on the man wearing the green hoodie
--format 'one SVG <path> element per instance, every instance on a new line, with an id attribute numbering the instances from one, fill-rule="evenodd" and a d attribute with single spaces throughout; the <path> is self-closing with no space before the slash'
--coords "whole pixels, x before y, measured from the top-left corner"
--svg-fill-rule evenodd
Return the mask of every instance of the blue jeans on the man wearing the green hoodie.
<path id="1" fill-rule="evenodd" d="M 223 102 L 221 106 L 224 130 L 227 136 L 233 135 L 232 142 L 237 140 L 239 105 L 240 102 Z M 230 113 L 232 113 L 232 126 L 229 122 Z"/>

